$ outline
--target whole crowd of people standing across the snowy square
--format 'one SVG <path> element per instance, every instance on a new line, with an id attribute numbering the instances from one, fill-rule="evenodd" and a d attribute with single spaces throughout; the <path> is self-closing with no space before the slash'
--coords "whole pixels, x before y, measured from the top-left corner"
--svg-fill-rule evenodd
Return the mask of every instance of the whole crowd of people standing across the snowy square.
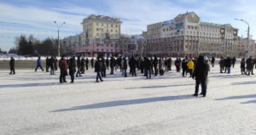
<path id="1" fill-rule="evenodd" d="M 194 96 L 198 96 L 199 85 L 201 85 L 202 88 L 202 92 L 200 93 L 200 95 L 203 95 L 204 97 L 206 96 L 210 62 L 211 66 L 214 67 L 214 57 L 212 57 L 211 59 L 203 56 L 200 56 L 198 58 L 186 57 L 182 60 L 181 58 L 176 58 L 176 60 L 174 61 L 176 72 L 181 72 L 182 69 L 182 77 L 186 77 L 189 73 L 189 77 L 196 79 L 196 90 Z M 235 62 L 235 57 L 222 57 L 219 61 L 220 73 L 231 73 L 231 67 L 234 68 Z M 84 57 L 77 57 L 77 59 L 75 59 L 75 57 L 70 57 L 69 59 L 67 59 L 67 57 L 63 55 L 58 62 L 58 59 L 56 57 L 51 57 L 50 59 L 47 57 L 46 72 L 50 72 L 51 75 L 55 75 L 54 72 L 58 70 L 57 63 L 60 69 L 60 83 L 67 83 L 66 76 L 68 75 L 71 78 L 70 83 L 74 83 L 75 76 L 82 77 L 81 74 L 85 74 L 85 70 L 88 70 L 89 60 L 88 58 L 85 59 Z M 240 66 L 242 75 L 254 75 L 253 69 L 255 64 L 256 59 L 253 59 L 251 56 L 246 60 L 243 58 Z M 97 83 L 104 81 L 102 78 L 106 77 L 106 70 L 109 69 L 109 75 L 113 75 L 114 71 L 120 69 L 122 76 L 127 77 L 128 67 L 130 68 L 129 74 L 132 77 L 136 77 L 136 72 L 140 71 L 140 73 L 142 73 L 143 76 L 145 76 L 147 79 L 151 79 L 152 75 L 157 76 L 159 74 L 159 76 L 163 76 L 164 73 L 171 71 L 172 59 L 167 59 L 163 57 L 157 58 L 156 56 L 154 57 L 154 59 L 152 57 L 135 58 L 133 56 L 129 58 L 119 57 L 117 59 L 114 57 L 107 57 L 106 59 L 104 59 L 104 57 L 97 57 L 95 60 L 93 58 L 91 59 L 91 66 L 92 69 L 94 68 L 94 71 L 97 73 Z M 38 68 L 44 71 L 41 66 L 41 57 L 38 57 L 37 59 L 37 66 L 35 71 L 37 71 Z M 49 68 L 51 68 L 50 71 Z M 14 59 L 12 57 L 10 60 L 10 70 L 10 74 L 15 74 Z"/>

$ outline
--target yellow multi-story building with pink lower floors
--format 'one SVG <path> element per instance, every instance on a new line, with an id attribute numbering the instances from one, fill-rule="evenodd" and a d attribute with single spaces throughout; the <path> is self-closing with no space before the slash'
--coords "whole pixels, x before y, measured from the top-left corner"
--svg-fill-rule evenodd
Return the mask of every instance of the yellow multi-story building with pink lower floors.
<path id="1" fill-rule="evenodd" d="M 118 45 L 121 23 L 118 18 L 93 14 L 83 19 L 82 45 L 75 52 L 93 57 L 121 54 Z"/>

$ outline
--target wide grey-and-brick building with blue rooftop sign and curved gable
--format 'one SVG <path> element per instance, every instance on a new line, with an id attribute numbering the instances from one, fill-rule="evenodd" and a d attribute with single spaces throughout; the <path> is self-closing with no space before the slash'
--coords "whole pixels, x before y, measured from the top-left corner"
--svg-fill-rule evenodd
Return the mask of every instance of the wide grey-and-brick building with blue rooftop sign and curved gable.
<path id="1" fill-rule="evenodd" d="M 162 24 L 157 33 L 159 38 L 147 40 L 149 54 L 171 57 L 237 54 L 238 29 L 230 24 L 201 22 L 194 12 L 179 14 L 174 19 L 157 24 Z"/>

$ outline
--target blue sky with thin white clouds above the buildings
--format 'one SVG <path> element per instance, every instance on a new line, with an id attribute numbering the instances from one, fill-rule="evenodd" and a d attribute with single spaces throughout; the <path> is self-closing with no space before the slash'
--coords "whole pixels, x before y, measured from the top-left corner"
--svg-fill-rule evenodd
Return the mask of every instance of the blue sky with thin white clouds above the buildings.
<path id="1" fill-rule="evenodd" d="M 101 4 L 102 1 L 102 4 Z M 178 14 L 195 12 L 201 21 L 231 24 L 246 37 L 247 25 L 256 37 L 256 0 L 0 0 L 0 48 L 14 47 L 14 38 L 21 34 L 35 38 L 60 38 L 82 32 L 82 19 L 89 14 L 121 18 L 121 33 L 140 34 L 147 24 L 173 19 Z"/>

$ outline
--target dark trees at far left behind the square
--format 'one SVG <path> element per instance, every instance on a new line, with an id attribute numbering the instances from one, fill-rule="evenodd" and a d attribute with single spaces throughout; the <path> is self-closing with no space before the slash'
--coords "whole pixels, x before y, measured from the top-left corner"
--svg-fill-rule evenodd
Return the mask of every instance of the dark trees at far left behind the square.
<path id="1" fill-rule="evenodd" d="M 46 38 L 38 40 L 30 35 L 29 38 L 21 35 L 15 38 L 16 48 L 11 48 L 9 53 L 17 53 L 21 56 L 58 56 L 58 39 Z M 63 47 L 60 47 L 63 54 Z"/>

